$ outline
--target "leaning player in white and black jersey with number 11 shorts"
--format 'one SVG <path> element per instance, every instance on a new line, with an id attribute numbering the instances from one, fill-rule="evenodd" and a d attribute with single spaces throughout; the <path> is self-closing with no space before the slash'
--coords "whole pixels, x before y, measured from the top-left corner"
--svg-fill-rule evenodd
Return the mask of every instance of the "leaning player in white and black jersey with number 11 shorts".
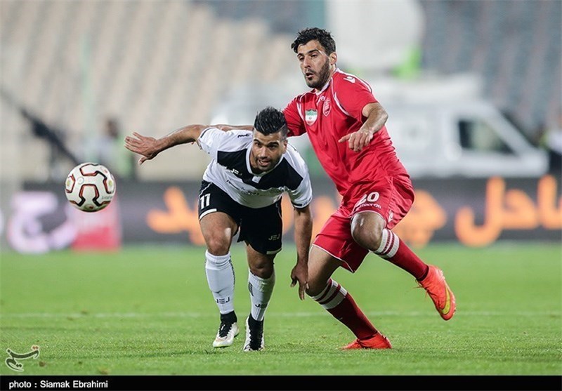
<path id="1" fill-rule="evenodd" d="M 275 285 L 273 259 L 282 247 L 283 192 L 294 206 L 296 265 L 291 286 L 298 282 L 299 298 L 304 300 L 312 234 L 308 167 L 287 143 L 285 116 L 273 107 L 256 115 L 253 128 L 188 125 L 159 139 L 133 132 L 125 138 L 125 147 L 141 154 L 139 164 L 143 164 L 174 145 L 194 142 L 212 157 L 203 174 L 199 219 L 207 244 L 207 282 L 221 313 L 213 346 L 230 346 L 238 334 L 230 246 L 240 231 L 238 241 L 246 244 L 251 300 L 243 350 L 262 350 L 263 319 Z"/>

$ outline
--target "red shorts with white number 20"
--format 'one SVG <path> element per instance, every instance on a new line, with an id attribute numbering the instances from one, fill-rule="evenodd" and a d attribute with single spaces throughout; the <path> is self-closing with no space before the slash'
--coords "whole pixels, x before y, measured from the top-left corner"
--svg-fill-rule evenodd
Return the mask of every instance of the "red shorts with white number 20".
<path id="1" fill-rule="evenodd" d="M 414 189 L 407 176 L 358 183 L 346 192 L 338 210 L 329 217 L 313 244 L 341 260 L 344 268 L 355 272 L 369 253 L 351 236 L 351 218 L 355 213 L 378 213 L 386 221 L 386 228 L 391 230 L 410 211 L 413 202 Z"/>

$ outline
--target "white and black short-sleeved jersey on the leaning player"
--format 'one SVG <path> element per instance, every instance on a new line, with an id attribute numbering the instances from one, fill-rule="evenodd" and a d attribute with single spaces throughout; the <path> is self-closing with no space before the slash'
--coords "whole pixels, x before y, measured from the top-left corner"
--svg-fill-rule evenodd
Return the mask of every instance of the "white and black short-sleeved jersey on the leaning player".
<path id="1" fill-rule="evenodd" d="M 203 180 L 214 183 L 238 204 L 263 208 L 275 204 L 287 192 L 296 208 L 312 200 L 311 179 L 303 158 L 292 145 L 287 145 L 277 166 L 266 173 L 254 174 L 250 166 L 252 131 L 221 131 L 207 128 L 197 144 L 212 161 Z"/>

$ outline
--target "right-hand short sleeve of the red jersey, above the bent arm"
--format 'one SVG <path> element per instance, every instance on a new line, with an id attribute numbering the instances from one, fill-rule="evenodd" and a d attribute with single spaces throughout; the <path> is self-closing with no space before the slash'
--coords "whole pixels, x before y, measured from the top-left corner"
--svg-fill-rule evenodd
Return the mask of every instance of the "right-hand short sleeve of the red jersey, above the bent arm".
<path id="1" fill-rule="evenodd" d="M 369 84 L 358 77 L 348 74 L 336 82 L 336 99 L 341 109 L 355 119 L 362 120 L 365 105 L 378 102 Z"/>

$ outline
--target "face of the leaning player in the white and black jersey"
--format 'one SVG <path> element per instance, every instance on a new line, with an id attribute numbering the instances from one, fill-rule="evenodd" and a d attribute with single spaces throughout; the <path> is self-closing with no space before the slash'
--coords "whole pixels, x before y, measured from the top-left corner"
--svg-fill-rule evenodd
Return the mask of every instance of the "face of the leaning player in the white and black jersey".
<path id="1" fill-rule="evenodd" d="M 287 139 L 281 132 L 264 135 L 254 130 L 254 141 L 250 151 L 250 166 L 254 173 L 270 171 L 281 160 L 287 150 Z"/>

